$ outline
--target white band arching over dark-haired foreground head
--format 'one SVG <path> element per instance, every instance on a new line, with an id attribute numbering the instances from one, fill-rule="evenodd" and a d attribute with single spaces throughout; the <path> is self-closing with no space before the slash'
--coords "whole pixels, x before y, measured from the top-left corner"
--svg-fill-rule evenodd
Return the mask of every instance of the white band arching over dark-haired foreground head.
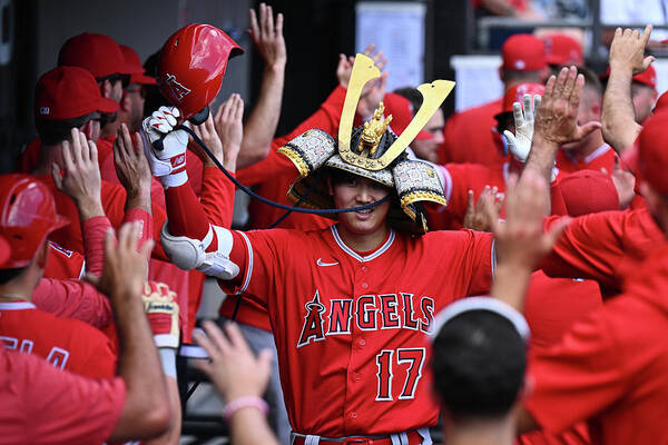
<path id="1" fill-rule="evenodd" d="M 520 337 L 522 337 L 524 342 L 528 342 L 529 337 L 531 336 L 531 329 L 529 329 L 529 325 L 527 324 L 524 316 L 517 312 L 512 306 L 492 297 L 469 297 L 462 298 L 445 306 L 445 309 L 441 310 L 436 315 L 433 323 L 433 329 L 430 334 L 432 342 L 439 336 L 443 325 L 458 315 L 470 310 L 489 310 L 499 314 L 512 323 L 518 334 L 520 334 Z"/>

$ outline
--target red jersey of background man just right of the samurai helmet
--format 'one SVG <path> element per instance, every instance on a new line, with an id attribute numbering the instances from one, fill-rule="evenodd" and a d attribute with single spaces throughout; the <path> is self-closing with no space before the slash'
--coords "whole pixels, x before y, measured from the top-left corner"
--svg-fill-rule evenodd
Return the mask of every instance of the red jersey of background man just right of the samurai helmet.
<path id="1" fill-rule="evenodd" d="M 503 98 L 452 115 L 443 129 L 439 164 L 482 164 L 494 166 L 509 159 L 497 131 L 494 116 L 501 112 Z"/>

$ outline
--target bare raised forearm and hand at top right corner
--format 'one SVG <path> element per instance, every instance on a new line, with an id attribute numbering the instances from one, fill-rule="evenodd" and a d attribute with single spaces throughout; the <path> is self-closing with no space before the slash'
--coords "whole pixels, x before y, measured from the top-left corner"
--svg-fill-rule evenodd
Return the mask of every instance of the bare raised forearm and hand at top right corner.
<path id="1" fill-rule="evenodd" d="M 610 46 L 610 78 L 603 95 L 603 139 L 618 154 L 631 147 L 642 127 L 636 122 L 631 99 L 633 75 L 645 71 L 654 57 L 645 57 L 645 47 L 651 34 L 651 24 L 638 30 L 617 28 Z"/>

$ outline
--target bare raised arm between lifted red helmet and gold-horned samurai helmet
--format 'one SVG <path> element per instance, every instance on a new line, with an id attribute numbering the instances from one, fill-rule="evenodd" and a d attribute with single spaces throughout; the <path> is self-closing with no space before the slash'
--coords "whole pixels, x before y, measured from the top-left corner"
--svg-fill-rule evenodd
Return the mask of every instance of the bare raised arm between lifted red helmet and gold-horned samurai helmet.
<path id="1" fill-rule="evenodd" d="M 266 158 L 271 151 L 272 139 L 274 139 L 278 117 L 281 116 L 285 63 L 287 61 L 285 40 L 283 39 L 282 13 L 276 16 L 274 24 L 272 7 L 259 3 L 259 22 L 255 11 L 250 9 L 250 29 L 248 33 L 262 56 L 265 67 L 257 103 L 244 126 L 244 140 L 237 161 L 238 168 L 250 166 Z"/>

